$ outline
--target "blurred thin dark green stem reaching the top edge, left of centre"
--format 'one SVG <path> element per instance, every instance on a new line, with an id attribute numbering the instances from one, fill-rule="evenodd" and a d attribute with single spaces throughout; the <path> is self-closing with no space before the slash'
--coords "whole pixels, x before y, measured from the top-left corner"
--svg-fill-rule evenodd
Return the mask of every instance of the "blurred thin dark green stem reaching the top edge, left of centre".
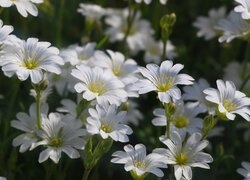
<path id="1" fill-rule="evenodd" d="M 65 0 L 60 1 L 60 9 L 57 20 L 57 30 L 56 30 L 56 45 L 58 48 L 61 47 L 61 34 L 62 34 L 62 19 L 63 19 L 63 10 L 65 5 Z"/>

